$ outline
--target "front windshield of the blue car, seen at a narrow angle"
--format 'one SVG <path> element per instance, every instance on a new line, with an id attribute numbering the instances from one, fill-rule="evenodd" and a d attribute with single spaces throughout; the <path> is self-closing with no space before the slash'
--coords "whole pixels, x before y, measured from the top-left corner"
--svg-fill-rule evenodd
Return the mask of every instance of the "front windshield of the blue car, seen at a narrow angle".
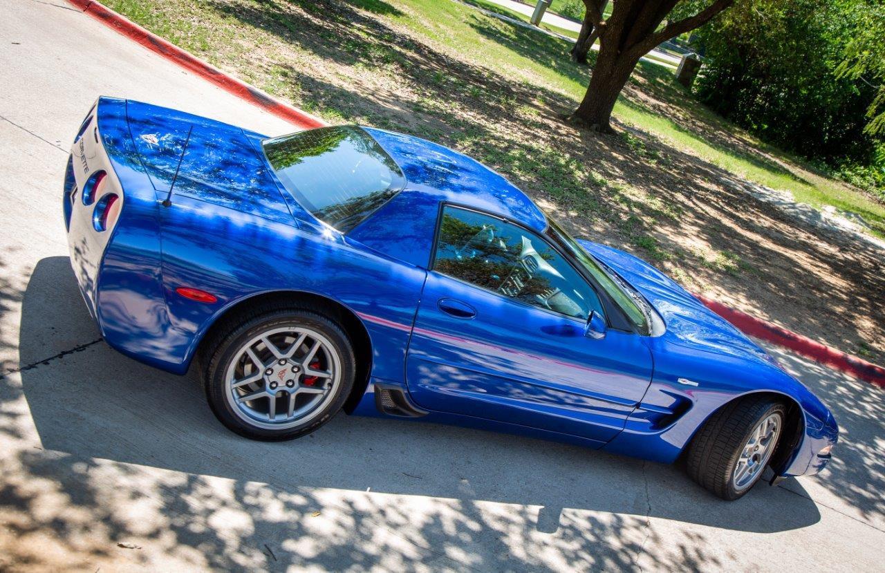
<path id="1" fill-rule="evenodd" d="M 545 213 L 546 214 L 546 213 Z M 636 292 L 635 288 L 630 286 L 627 281 L 621 279 L 607 265 L 599 262 L 591 256 L 578 241 L 559 226 L 559 224 L 547 215 L 549 223 L 547 227 L 547 236 L 556 242 L 560 248 L 565 248 L 571 253 L 578 263 L 589 272 L 590 276 L 596 279 L 596 283 L 603 287 L 605 292 L 612 297 L 612 300 L 624 310 L 627 319 L 635 325 L 639 332 L 648 334 L 651 325 L 651 309 L 649 303 L 645 301 L 642 294 Z"/>

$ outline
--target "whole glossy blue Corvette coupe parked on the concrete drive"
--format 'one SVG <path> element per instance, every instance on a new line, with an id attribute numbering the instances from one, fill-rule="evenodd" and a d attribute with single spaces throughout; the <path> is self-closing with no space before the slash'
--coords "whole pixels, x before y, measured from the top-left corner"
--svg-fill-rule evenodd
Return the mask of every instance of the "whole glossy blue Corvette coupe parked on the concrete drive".
<path id="1" fill-rule="evenodd" d="M 734 500 L 824 468 L 827 408 L 650 265 L 573 239 L 469 157 L 358 126 L 267 138 L 101 97 L 64 191 L 104 340 L 194 363 L 233 432 L 339 410 L 657 462 Z"/>

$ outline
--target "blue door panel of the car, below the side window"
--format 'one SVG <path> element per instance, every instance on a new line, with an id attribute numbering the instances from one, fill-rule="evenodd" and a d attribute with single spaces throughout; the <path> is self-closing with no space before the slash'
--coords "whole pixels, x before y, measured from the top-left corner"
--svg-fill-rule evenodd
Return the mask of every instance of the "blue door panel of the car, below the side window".
<path id="1" fill-rule="evenodd" d="M 462 305 L 473 316 L 448 311 Z M 593 340 L 581 319 L 427 274 L 406 361 L 423 408 L 607 441 L 650 378 L 650 352 L 636 334 L 610 329 Z"/>

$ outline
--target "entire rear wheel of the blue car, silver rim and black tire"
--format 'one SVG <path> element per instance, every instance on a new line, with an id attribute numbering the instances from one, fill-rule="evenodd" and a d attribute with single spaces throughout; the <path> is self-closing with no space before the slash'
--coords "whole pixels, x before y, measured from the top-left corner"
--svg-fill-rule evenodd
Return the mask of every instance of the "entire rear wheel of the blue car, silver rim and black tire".
<path id="1" fill-rule="evenodd" d="M 204 371 L 212 412 L 251 439 L 293 439 L 341 409 L 353 386 L 350 340 L 332 319 L 308 309 L 276 309 L 210 342 Z"/>

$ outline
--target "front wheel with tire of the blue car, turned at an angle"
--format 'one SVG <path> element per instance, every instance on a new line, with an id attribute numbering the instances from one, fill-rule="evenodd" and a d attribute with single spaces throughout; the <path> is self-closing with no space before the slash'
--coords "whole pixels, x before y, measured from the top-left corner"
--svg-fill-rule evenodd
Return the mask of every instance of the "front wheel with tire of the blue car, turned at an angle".
<path id="1" fill-rule="evenodd" d="M 745 398 L 713 414 L 692 440 L 689 476 L 723 500 L 756 485 L 781 438 L 786 409 L 771 398 Z"/>

